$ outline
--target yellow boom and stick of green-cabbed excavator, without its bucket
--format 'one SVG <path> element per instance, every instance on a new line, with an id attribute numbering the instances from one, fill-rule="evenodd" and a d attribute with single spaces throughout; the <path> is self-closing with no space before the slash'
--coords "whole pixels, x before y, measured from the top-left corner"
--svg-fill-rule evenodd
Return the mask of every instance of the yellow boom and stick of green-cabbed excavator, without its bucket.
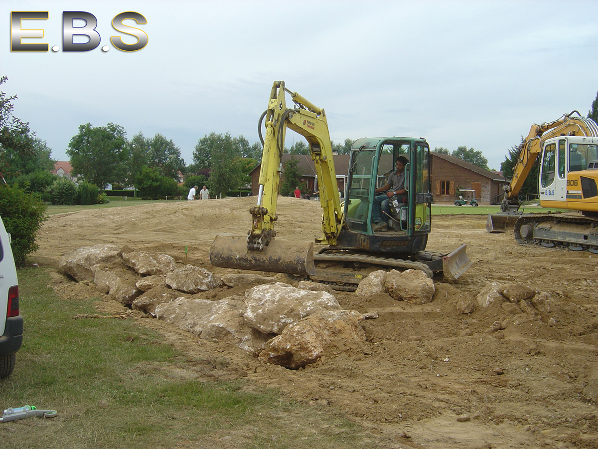
<path id="1" fill-rule="evenodd" d="M 291 95 L 295 108 L 286 107 L 285 91 Z M 252 227 L 247 238 L 248 249 L 262 251 L 276 235 L 274 222 L 277 220 L 276 204 L 286 128 L 304 136 L 309 144 L 318 176 L 320 204 L 324 210 L 322 240 L 329 245 L 335 245 L 343 224 L 343 211 L 338 198 L 332 145 L 324 109 L 316 107 L 297 92 L 286 89 L 284 81 L 274 81 L 265 117 L 266 137 L 263 142 L 260 190 L 257 206 L 249 210 L 252 215 Z"/>

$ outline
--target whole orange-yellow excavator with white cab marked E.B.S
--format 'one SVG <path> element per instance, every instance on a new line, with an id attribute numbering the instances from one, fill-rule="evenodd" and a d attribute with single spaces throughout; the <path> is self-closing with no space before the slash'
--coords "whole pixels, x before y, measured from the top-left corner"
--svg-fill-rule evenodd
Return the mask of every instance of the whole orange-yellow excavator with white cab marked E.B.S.
<path id="1" fill-rule="evenodd" d="M 532 125 L 519 148 L 511 183 L 505 186 L 502 212 L 489 215 L 486 230 L 504 232 L 514 226 L 515 239 L 521 244 L 598 253 L 596 123 L 572 111 L 554 122 Z M 540 205 L 579 212 L 523 213 L 518 193 L 538 157 Z"/>

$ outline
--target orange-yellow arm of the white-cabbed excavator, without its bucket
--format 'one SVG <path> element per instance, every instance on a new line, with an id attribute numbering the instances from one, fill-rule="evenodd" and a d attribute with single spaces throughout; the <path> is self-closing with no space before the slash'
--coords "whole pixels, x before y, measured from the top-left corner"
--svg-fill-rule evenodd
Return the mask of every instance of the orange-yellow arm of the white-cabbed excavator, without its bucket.
<path id="1" fill-rule="evenodd" d="M 576 113 L 578 117 L 572 117 Z M 519 145 L 519 156 L 514 166 L 511 183 L 505 186 L 505 193 L 501 204 L 501 211 L 517 211 L 520 207 L 518 195 L 532 170 L 533 163 L 542 153 L 542 144 L 547 139 L 556 136 L 597 136 L 598 128 L 591 119 L 582 117 L 578 111 L 564 114 L 560 119 L 542 125 L 532 125 L 529 134 Z"/>

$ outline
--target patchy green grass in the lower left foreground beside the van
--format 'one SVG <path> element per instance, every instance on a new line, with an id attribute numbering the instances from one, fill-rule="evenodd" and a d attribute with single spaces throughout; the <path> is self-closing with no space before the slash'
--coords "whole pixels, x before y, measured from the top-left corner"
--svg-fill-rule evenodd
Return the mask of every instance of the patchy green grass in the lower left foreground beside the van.
<path id="1" fill-rule="evenodd" d="M 370 433 L 332 411 L 255 391 L 245 381 L 201 381 L 198 365 L 133 319 L 97 314 L 97 299 L 64 299 L 41 268 L 19 271 L 23 347 L 0 380 L 0 410 L 23 405 L 57 417 L 0 423 L 0 447 L 376 447 Z M 221 441 L 230 439 L 230 445 Z"/>

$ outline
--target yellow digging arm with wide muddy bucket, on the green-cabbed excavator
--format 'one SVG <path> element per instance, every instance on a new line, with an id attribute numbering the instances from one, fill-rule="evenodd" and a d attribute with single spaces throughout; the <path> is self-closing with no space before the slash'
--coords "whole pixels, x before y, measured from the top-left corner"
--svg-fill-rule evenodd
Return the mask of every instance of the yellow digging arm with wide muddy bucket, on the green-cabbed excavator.
<path id="1" fill-rule="evenodd" d="M 286 107 L 285 92 L 291 95 L 294 108 Z M 266 136 L 262 138 L 263 120 Z M 257 271 L 315 274 L 313 242 L 291 242 L 274 239 L 274 223 L 282 172 L 282 154 L 286 129 L 304 136 L 309 144 L 320 189 L 320 204 L 324 211 L 322 231 L 318 239 L 336 245 L 344 216 L 336 183 L 332 145 L 324 109 L 316 107 L 297 92 L 286 89 L 284 81 L 274 81 L 268 108 L 260 117 L 258 131 L 264 145 L 257 205 L 249 209 L 251 229 L 248 237 L 216 236 L 210 248 L 212 265 Z"/>

